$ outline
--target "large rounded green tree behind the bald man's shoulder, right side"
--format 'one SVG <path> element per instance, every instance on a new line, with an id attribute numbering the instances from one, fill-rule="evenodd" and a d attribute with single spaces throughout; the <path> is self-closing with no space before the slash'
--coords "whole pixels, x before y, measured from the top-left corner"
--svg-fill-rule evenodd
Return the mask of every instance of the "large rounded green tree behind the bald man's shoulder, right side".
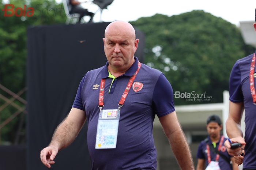
<path id="1" fill-rule="evenodd" d="M 212 97 L 197 102 L 174 99 L 178 105 L 222 102 L 234 63 L 254 52 L 234 24 L 204 11 L 156 14 L 131 24 L 146 35 L 144 63 L 162 71 L 174 92 L 206 92 Z"/>

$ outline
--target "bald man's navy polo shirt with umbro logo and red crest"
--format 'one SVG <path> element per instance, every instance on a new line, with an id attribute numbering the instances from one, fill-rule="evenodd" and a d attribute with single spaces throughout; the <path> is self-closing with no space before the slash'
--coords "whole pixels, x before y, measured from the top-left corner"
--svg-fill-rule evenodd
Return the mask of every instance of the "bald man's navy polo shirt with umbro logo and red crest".
<path id="1" fill-rule="evenodd" d="M 141 65 L 133 83 L 143 84 L 141 90 L 129 91 L 121 107 L 115 149 L 95 149 L 99 117 L 99 84 L 105 79 L 103 109 L 117 109 L 128 80 L 138 68 L 138 58 L 124 75 L 109 78 L 108 62 L 89 71 L 80 82 L 74 105 L 84 110 L 88 121 L 87 144 L 92 170 L 156 170 L 157 151 L 152 135 L 155 114 L 158 117 L 174 112 L 173 90 L 162 72 Z M 110 89 L 110 90 L 109 90 Z"/>

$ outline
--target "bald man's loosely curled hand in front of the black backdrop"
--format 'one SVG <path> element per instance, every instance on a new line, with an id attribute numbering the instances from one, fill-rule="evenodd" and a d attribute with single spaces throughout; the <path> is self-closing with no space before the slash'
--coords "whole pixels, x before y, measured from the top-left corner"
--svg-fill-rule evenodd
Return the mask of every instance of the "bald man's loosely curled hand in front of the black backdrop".
<path id="1" fill-rule="evenodd" d="M 42 163 L 46 167 L 50 168 L 51 165 L 55 163 L 53 161 L 53 159 L 55 158 L 57 153 L 58 153 L 58 147 L 48 146 L 48 147 L 44 148 L 41 151 L 41 154 L 40 154 L 40 158 L 41 158 Z"/>

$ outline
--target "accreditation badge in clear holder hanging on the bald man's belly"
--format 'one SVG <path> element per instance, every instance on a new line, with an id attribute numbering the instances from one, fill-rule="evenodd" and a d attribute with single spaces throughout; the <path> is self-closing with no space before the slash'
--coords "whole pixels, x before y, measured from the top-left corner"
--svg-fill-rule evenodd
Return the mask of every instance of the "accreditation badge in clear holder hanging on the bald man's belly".
<path id="1" fill-rule="evenodd" d="M 119 118 L 118 109 L 99 112 L 95 149 L 116 148 Z"/>

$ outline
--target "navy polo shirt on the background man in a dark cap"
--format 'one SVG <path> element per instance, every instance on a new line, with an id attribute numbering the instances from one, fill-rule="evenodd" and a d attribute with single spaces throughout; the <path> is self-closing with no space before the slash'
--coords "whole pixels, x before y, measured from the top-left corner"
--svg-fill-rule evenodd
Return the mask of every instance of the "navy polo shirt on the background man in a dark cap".
<path id="1" fill-rule="evenodd" d="M 210 144 L 212 143 L 210 137 L 208 136 L 208 145 L 210 146 Z M 221 140 L 221 138 L 220 138 Z M 227 140 L 227 138 L 224 137 L 224 141 L 223 141 L 223 144 L 221 146 L 221 149 L 220 149 L 220 153 L 224 156 L 226 156 L 227 159 L 230 159 L 231 156 L 227 153 L 226 151 L 226 147 L 224 146 L 224 142 Z M 219 141 L 218 143 L 216 143 L 216 148 L 218 149 L 219 148 Z M 215 161 L 215 158 L 216 158 L 216 153 L 213 153 L 210 149 L 210 155 L 211 155 L 211 160 L 212 161 Z M 198 146 L 198 149 L 197 149 L 197 153 L 196 153 L 196 158 L 199 158 L 199 159 L 205 159 L 205 167 L 208 166 L 208 161 L 207 161 L 207 148 L 206 148 L 206 141 L 203 140 L 201 141 L 201 143 L 199 144 Z M 221 156 L 219 156 L 219 167 L 221 168 L 221 170 L 232 170 L 230 164 L 225 160 L 223 159 Z"/>

